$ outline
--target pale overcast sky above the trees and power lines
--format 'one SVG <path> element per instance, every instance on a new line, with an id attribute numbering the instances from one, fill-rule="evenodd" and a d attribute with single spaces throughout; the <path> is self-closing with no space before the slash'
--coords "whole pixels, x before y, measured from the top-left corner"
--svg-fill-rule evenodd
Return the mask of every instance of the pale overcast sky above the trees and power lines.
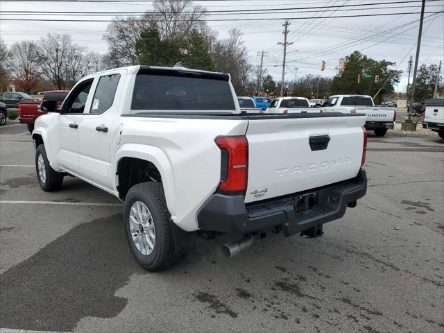
<path id="1" fill-rule="evenodd" d="M 283 41 L 284 17 L 298 17 L 304 19 L 291 20 L 289 26 L 289 42 L 293 42 L 287 51 L 286 80 L 297 76 L 314 74 L 334 76 L 339 65 L 339 59 L 352 51 L 358 50 L 376 60 L 386 59 L 396 62 L 399 69 L 404 71 L 399 90 L 407 85 L 407 67 L 410 56 L 413 60 L 416 52 L 418 37 L 419 14 L 403 14 L 374 17 L 343 17 L 328 18 L 339 15 L 368 15 L 386 12 L 412 13 L 420 12 L 420 1 L 399 3 L 397 5 L 377 5 L 339 8 L 323 8 L 324 6 L 357 5 L 368 3 L 399 2 L 402 0 L 287 0 L 287 1 L 255 1 L 255 0 L 227 0 L 227 1 L 194 1 L 205 6 L 207 10 L 246 10 L 271 8 L 313 8 L 297 10 L 286 14 L 267 15 L 210 15 L 208 19 L 239 19 L 260 18 L 257 21 L 214 22 L 209 21 L 210 27 L 216 31 L 219 38 L 227 37 L 230 28 L 239 28 L 244 33 L 244 42 L 249 50 L 250 62 L 259 65 L 260 56 L 257 53 L 264 50 L 264 67 L 280 80 L 282 75 L 283 48 L 278 42 Z M 407 0 L 411 1 L 411 0 Z M 387 8 L 398 6 L 402 8 Z M 376 7 L 375 9 L 368 9 Z M 356 10 L 360 8 L 361 10 Z M 385 8 L 385 9 L 384 9 Z M 47 33 L 67 33 L 74 42 L 87 46 L 92 51 L 106 53 L 108 46 L 103 40 L 106 26 L 109 22 L 32 22 L 32 21 L 4 21 L 4 19 L 31 18 L 21 15 L 5 15 L 10 10 L 35 11 L 78 11 L 78 12 L 144 12 L 152 10 L 151 1 L 141 2 L 82 2 L 69 3 L 61 1 L 52 2 L 8 2 L 0 1 L 1 38 L 10 45 L 20 40 L 39 40 Z M 338 10 L 338 11 L 335 11 Z M 427 1 L 425 12 L 444 11 L 444 0 Z M 425 24 L 422 32 L 420 51 L 420 64 L 436 64 L 444 60 L 444 16 L 443 13 L 433 15 L 425 14 Z M 322 17 L 321 19 L 305 19 L 306 17 Z M 34 16 L 33 19 L 112 19 L 112 16 L 101 17 L 67 17 L 67 16 Z M 271 18 L 282 18 L 271 19 Z M 410 22 L 413 22 L 409 24 Z M 406 24 L 405 26 L 402 26 Z M 397 28 L 402 26 L 400 28 Z M 392 31 L 392 29 L 394 29 Z M 388 32 L 386 32 L 388 31 Z M 377 34 L 377 35 L 375 35 Z M 327 69 L 321 71 L 321 62 L 325 60 Z"/>

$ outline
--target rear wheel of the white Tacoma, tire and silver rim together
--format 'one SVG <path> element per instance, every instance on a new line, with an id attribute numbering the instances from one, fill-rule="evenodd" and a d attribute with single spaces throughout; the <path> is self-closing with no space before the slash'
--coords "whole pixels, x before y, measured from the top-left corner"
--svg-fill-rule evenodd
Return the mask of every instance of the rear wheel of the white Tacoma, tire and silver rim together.
<path id="1" fill-rule="evenodd" d="M 128 244 L 139 264 L 160 271 L 177 259 L 162 183 L 142 182 L 128 191 L 123 224 Z"/>

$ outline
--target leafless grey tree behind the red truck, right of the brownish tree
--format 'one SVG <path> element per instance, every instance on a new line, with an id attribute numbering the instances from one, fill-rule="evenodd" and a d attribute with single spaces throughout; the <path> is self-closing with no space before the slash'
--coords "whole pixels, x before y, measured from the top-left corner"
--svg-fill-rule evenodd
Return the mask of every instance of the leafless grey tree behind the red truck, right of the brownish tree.
<path id="1" fill-rule="evenodd" d="M 49 34 L 40 40 L 39 61 L 44 76 L 57 89 L 66 89 L 72 78 L 68 72 L 73 55 L 73 44 L 69 35 Z"/>

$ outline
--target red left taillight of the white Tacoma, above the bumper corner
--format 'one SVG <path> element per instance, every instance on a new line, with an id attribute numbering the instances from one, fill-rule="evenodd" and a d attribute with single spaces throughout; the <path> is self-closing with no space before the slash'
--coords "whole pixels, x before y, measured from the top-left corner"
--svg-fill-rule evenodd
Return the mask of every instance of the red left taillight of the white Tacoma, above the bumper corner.
<path id="1" fill-rule="evenodd" d="M 245 135 L 216 137 L 221 149 L 221 182 L 218 191 L 245 192 L 248 176 L 248 141 Z"/>

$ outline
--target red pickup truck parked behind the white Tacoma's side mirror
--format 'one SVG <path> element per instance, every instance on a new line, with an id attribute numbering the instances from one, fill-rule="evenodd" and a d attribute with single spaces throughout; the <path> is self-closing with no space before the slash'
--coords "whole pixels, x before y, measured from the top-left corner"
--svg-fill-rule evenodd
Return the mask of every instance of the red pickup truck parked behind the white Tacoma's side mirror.
<path id="1" fill-rule="evenodd" d="M 51 90 L 45 92 L 43 95 L 42 101 L 46 101 L 49 99 L 55 99 L 57 101 L 58 107 L 62 104 L 63 100 L 67 96 L 69 90 Z M 21 123 L 26 123 L 28 125 L 29 132 L 33 132 L 34 130 L 34 122 L 37 117 L 42 114 L 46 114 L 46 112 L 40 110 L 41 102 L 20 102 L 19 103 L 19 121 Z"/>

